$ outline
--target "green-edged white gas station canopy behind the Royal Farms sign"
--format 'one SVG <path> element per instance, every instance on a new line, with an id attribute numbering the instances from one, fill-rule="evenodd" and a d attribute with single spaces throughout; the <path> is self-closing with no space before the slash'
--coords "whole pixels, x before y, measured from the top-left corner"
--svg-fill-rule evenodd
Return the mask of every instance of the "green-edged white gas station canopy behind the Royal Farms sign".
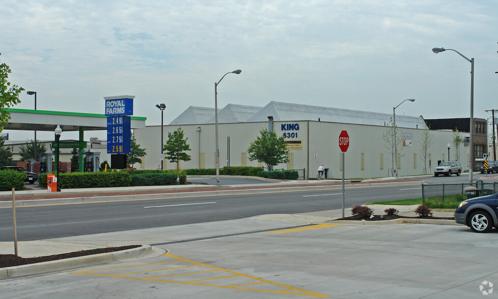
<path id="1" fill-rule="evenodd" d="M 7 109 L 10 120 L 5 130 L 53 131 L 60 125 L 68 131 L 107 130 L 107 116 L 104 114 L 62 112 L 30 109 Z M 145 129 L 147 117 L 131 116 L 131 129 Z"/>

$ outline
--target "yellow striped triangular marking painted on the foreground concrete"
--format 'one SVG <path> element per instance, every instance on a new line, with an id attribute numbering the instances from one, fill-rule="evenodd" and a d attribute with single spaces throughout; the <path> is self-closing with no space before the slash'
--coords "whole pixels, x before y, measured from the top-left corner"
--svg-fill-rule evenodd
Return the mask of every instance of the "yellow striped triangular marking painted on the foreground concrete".
<path id="1" fill-rule="evenodd" d="M 127 266 L 124 266 L 90 271 L 72 271 L 69 273 L 147 281 L 160 281 L 165 283 L 178 283 L 191 286 L 208 286 L 306 297 L 330 297 L 329 295 L 307 291 L 255 276 L 226 270 L 213 265 L 188 260 L 169 253 L 165 253 L 163 254 L 163 256 L 169 259 L 169 261 L 165 263 L 173 263 L 174 265 L 169 268 L 160 267 L 162 263 L 129 266 L 130 268 L 143 267 L 143 269 L 135 268 L 136 270 L 143 270 L 135 272 L 127 272 Z M 157 266 L 159 267 L 156 268 Z M 191 271 L 194 269 L 193 267 L 197 267 L 198 271 Z M 158 274 L 160 276 L 158 276 Z"/>

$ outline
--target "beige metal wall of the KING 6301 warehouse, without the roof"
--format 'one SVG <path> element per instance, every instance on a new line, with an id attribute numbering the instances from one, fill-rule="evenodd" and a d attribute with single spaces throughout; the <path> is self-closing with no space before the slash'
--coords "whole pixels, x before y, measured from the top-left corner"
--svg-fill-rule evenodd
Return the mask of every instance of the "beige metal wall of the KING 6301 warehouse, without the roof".
<path id="1" fill-rule="evenodd" d="M 296 126 L 297 125 L 297 126 Z M 215 168 L 214 124 L 164 126 L 164 144 L 168 133 L 182 128 L 190 145 L 187 152 L 191 161 L 180 162 L 180 169 Z M 263 166 L 257 161 L 249 161 L 247 147 L 259 136 L 259 131 L 268 128 L 267 122 L 218 124 L 220 168 L 227 166 L 227 137 L 230 137 L 230 166 Z M 147 155 L 142 158 L 137 169 L 160 168 L 161 126 L 148 126 L 145 130 L 134 130 L 134 136 Z M 315 177 L 321 164 L 328 168 L 327 177 L 342 177 L 341 150 L 338 145 L 339 134 L 346 130 L 349 135 L 349 148 L 345 154 L 345 176 L 347 178 L 371 178 L 391 176 L 393 160 L 391 152 L 382 139 L 383 134 L 391 127 L 366 126 L 355 124 L 338 124 L 317 121 L 274 122 L 273 130 L 277 136 L 284 136 L 286 141 L 301 142 L 301 146 L 290 151 L 291 161 L 287 164 L 275 165 L 276 169 L 306 169 L 307 177 Z M 421 138 L 424 130 L 399 128 L 407 146 L 398 146 L 398 174 L 422 174 L 424 160 L 421 157 Z M 450 159 L 456 160 L 453 143 L 453 132 L 431 131 L 432 142 L 427 157 L 427 173 L 432 173 L 438 161 L 448 160 L 450 143 Z M 460 133 L 464 138 L 468 133 Z M 468 170 L 468 148 L 464 143 L 459 146 L 460 162 L 463 170 Z M 315 155 L 316 153 L 316 155 Z M 165 155 L 164 155 L 165 156 Z M 430 158 L 430 163 L 429 163 Z M 103 161 L 101 159 L 101 161 Z M 164 160 L 164 169 L 176 169 L 176 164 Z"/>

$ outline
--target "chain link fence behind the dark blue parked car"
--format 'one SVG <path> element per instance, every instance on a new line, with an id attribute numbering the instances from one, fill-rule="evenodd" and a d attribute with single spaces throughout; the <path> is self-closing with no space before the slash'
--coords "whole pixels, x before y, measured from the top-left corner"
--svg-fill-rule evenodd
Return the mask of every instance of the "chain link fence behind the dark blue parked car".
<path id="1" fill-rule="evenodd" d="M 473 184 L 434 184 L 422 185 L 422 203 L 461 202 L 468 198 L 491 195 L 498 192 L 498 183 L 477 181 Z"/>

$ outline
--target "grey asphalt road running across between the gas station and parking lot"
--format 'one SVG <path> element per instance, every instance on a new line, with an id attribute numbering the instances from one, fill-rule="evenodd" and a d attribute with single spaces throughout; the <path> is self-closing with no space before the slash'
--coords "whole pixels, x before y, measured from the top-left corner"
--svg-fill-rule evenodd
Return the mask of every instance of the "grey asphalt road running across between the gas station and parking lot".
<path id="1" fill-rule="evenodd" d="M 476 180 L 480 179 L 476 175 Z M 245 180 L 245 179 L 244 179 Z M 463 183 L 468 176 L 426 177 L 427 183 Z M 131 229 L 242 219 L 264 214 L 296 214 L 342 208 L 341 186 L 324 186 L 315 191 L 279 192 L 154 199 L 140 201 L 47 205 L 16 209 L 17 238 L 45 238 L 95 234 Z M 422 197 L 420 186 L 367 187 L 346 189 L 345 216 L 350 208 L 381 200 Z M 12 210 L 0 209 L 0 242 L 12 239 Z"/>

